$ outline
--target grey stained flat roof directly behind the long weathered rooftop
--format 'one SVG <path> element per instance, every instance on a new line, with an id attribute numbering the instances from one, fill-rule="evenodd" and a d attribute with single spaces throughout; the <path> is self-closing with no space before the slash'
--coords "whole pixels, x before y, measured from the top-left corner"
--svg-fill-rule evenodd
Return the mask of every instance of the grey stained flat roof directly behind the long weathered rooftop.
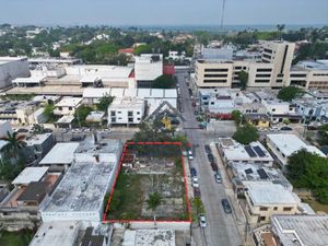
<path id="1" fill-rule="evenodd" d="M 115 139 L 101 139 L 97 137 L 98 143 L 95 143 L 94 137 L 87 137 L 84 141 L 80 142 L 75 153 L 118 153 L 121 144 L 119 140 Z"/>

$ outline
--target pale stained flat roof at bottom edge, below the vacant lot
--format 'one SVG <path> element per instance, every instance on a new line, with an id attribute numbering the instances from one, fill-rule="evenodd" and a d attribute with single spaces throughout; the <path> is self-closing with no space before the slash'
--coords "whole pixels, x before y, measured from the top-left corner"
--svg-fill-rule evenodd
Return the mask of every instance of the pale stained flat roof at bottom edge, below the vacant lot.
<path id="1" fill-rule="evenodd" d="M 175 246 L 174 230 L 127 230 L 122 246 Z"/>

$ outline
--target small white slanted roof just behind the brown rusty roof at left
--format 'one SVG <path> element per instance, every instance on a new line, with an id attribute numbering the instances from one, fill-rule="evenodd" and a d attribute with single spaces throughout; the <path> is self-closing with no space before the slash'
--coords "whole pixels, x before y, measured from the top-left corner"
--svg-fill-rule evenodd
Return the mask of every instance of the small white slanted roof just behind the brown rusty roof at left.
<path id="1" fill-rule="evenodd" d="M 11 183 L 13 185 L 27 185 L 32 181 L 39 181 L 49 167 L 25 167 L 19 176 Z"/>

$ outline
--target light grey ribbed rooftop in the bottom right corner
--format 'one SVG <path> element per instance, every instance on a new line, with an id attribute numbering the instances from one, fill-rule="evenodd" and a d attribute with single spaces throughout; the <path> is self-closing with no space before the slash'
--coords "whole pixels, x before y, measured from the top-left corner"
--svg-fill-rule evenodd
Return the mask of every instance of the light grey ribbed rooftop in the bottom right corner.
<path id="1" fill-rule="evenodd" d="M 284 246 L 327 246 L 327 215 L 273 215 L 271 220 Z"/>

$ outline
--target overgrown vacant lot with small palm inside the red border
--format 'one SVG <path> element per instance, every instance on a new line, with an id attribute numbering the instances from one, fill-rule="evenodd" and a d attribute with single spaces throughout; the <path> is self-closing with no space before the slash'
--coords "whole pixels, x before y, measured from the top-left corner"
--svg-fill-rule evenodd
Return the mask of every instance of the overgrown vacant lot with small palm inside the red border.
<path id="1" fill-rule="evenodd" d="M 128 148 L 107 219 L 188 220 L 184 181 L 178 145 Z"/>

